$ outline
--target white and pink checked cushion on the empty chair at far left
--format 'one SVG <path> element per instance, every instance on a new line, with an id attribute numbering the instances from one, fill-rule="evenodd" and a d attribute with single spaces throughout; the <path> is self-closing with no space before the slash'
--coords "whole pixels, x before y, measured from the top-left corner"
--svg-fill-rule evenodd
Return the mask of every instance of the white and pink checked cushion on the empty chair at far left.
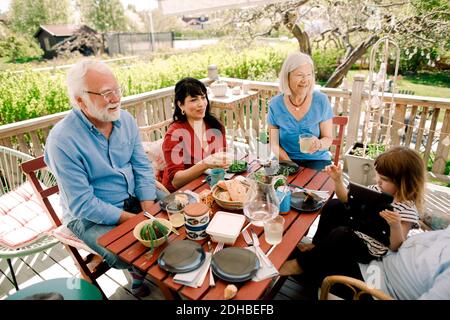
<path id="1" fill-rule="evenodd" d="M 59 196 L 52 195 L 50 202 L 58 215 Z M 54 228 L 46 211 L 40 205 L 29 182 L 0 196 L 0 244 L 16 249 L 47 235 Z"/>

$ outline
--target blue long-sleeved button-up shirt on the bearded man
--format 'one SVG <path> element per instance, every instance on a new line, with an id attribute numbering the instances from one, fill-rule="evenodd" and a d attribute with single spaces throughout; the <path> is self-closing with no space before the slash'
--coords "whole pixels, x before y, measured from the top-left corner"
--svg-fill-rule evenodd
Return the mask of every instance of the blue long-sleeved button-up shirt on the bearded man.
<path id="1" fill-rule="evenodd" d="M 44 161 L 58 181 L 65 224 L 74 219 L 117 224 L 130 195 L 155 199 L 153 169 L 136 121 L 120 112 L 109 139 L 76 109 L 47 138 Z"/>

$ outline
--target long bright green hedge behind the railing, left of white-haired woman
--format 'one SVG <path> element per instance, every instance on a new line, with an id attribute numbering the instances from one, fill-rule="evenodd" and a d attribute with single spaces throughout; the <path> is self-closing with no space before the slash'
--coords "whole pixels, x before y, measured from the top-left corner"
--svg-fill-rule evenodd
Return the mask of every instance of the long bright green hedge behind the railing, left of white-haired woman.
<path id="1" fill-rule="evenodd" d="M 111 67 L 127 96 L 173 86 L 187 76 L 205 78 L 208 65 L 213 63 L 221 76 L 275 81 L 286 55 L 294 50 L 293 46 L 258 45 L 233 51 L 226 45 L 215 45 L 197 53 Z M 0 73 L 0 125 L 68 110 L 65 77 L 65 70 L 54 74 L 31 70 Z"/>

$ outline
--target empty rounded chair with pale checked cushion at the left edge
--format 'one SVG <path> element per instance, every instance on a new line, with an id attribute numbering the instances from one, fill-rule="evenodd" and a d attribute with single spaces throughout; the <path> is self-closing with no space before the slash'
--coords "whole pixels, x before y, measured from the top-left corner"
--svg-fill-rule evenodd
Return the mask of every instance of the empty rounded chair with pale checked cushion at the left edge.
<path id="1" fill-rule="evenodd" d="M 49 235 L 52 225 L 32 196 L 20 164 L 32 156 L 0 146 L 0 258 L 6 259 L 19 290 L 11 259 L 47 250 L 59 241 Z M 40 182 L 46 183 L 41 176 Z"/>

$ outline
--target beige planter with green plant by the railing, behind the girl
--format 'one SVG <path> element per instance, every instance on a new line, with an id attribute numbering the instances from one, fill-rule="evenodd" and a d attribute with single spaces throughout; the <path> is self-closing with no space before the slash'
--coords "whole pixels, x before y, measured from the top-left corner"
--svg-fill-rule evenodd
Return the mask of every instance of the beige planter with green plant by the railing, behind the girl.
<path id="1" fill-rule="evenodd" d="M 375 158 L 386 150 L 384 145 L 355 143 L 345 154 L 350 181 L 362 185 L 375 183 Z"/>

